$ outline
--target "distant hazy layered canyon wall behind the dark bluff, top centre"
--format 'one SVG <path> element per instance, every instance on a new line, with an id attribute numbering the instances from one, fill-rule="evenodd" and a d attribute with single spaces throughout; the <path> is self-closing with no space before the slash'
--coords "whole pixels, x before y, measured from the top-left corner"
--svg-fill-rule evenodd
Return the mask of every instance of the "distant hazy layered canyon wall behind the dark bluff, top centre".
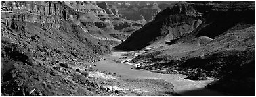
<path id="1" fill-rule="evenodd" d="M 154 20 L 155 15 L 165 9 L 170 7 L 177 2 L 174 1 L 142 1 L 142 2 L 106 2 L 108 5 L 108 10 L 112 10 L 114 15 L 119 15 L 122 18 L 127 20 L 135 20 L 140 22 L 150 22 Z M 104 9 L 104 8 L 102 8 Z"/>

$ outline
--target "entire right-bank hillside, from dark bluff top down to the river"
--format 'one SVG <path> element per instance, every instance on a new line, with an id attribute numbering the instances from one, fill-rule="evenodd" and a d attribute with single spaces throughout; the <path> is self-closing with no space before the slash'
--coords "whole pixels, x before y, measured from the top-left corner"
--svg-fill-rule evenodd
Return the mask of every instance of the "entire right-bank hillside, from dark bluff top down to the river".
<path id="1" fill-rule="evenodd" d="M 220 79 L 207 86 L 254 94 L 254 2 L 177 3 L 158 13 L 116 50 L 143 50 L 137 69 Z"/>

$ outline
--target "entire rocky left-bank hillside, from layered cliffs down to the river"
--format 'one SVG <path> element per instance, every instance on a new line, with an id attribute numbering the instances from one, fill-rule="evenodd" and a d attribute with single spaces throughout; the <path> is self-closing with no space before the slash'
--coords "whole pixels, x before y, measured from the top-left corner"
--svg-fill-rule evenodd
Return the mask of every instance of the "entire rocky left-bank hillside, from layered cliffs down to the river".
<path id="1" fill-rule="evenodd" d="M 141 26 L 95 2 L 2 1 L 2 95 L 110 95 L 89 65 Z"/>

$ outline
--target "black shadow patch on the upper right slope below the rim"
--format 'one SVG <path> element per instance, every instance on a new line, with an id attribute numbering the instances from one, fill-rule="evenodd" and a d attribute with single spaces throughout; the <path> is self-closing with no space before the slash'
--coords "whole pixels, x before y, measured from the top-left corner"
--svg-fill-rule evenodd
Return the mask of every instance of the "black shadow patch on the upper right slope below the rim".
<path id="1" fill-rule="evenodd" d="M 196 37 L 208 36 L 215 38 L 235 26 L 239 22 L 245 24 L 254 24 L 254 10 L 236 11 L 229 9 L 228 11 L 211 11 L 211 15 L 207 17 L 205 28 L 197 32 Z"/>

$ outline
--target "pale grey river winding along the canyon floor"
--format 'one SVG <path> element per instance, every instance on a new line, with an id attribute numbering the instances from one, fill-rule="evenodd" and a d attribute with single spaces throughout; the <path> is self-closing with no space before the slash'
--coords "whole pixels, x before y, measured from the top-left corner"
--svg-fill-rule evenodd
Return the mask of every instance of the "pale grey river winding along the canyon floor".
<path id="1" fill-rule="evenodd" d="M 121 79 L 163 79 L 174 86 L 175 92 L 180 95 L 223 95 L 219 92 L 204 88 L 213 80 L 192 81 L 186 78 L 186 75 L 180 74 L 161 74 L 150 71 L 131 69 L 133 65 L 125 63 L 116 63 L 113 60 L 123 57 L 119 54 L 125 52 L 113 52 L 112 55 L 104 57 L 106 60 L 98 61 L 95 68 L 99 71 L 110 71 L 121 76 Z"/>

